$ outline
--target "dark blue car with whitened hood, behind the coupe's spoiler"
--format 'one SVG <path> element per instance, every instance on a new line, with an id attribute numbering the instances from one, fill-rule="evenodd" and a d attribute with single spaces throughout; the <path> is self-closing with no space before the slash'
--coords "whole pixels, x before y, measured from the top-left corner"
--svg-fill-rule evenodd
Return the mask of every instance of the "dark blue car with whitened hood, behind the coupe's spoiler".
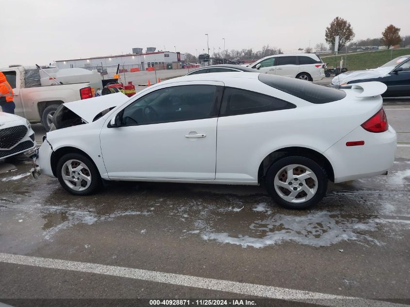
<path id="1" fill-rule="evenodd" d="M 375 69 L 349 71 L 333 78 L 332 87 L 379 81 L 387 85 L 383 97 L 410 96 L 410 55 L 403 55 Z"/>

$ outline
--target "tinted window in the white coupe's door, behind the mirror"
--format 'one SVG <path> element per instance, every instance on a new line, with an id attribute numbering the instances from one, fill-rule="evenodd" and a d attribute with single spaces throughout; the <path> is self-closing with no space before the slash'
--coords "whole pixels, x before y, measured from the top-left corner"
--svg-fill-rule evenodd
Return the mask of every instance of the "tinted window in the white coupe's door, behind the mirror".
<path id="1" fill-rule="evenodd" d="M 182 85 L 149 93 L 124 109 L 123 125 L 148 125 L 211 117 L 215 85 Z"/>

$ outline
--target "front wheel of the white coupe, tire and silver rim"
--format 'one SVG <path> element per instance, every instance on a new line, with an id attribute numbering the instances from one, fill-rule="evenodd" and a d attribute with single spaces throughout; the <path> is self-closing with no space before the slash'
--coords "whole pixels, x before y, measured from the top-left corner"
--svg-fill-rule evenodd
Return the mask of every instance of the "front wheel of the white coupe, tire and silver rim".
<path id="1" fill-rule="evenodd" d="M 61 186 L 74 195 L 89 195 L 99 188 L 101 178 L 97 167 L 82 154 L 66 154 L 57 163 Z"/>

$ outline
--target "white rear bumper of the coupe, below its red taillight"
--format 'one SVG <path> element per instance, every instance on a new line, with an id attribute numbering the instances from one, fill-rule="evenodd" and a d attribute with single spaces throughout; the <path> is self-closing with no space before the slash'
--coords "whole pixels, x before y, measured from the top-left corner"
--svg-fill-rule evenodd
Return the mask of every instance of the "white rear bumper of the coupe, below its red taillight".
<path id="1" fill-rule="evenodd" d="M 346 142 L 364 141 L 362 146 Z M 397 136 L 394 129 L 372 133 L 359 126 L 325 151 L 333 166 L 334 182 L 373 177 L 385 173 L 394 163 Z"/>

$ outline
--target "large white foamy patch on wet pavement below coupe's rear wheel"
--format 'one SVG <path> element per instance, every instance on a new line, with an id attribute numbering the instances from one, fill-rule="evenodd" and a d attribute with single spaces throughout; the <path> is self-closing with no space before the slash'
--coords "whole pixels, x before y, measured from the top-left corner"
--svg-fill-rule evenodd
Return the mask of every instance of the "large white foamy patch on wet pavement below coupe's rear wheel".
<path id="1" fill-rule="evenodd" d="M 252 246 L 261 248 L 285 241 L 311 246 L 329 246 L 341 241 L 368 241 L 382 245 L 381 242 L 363 234 L 363 231 L 377 230 L 377 218 L 358 220 L 336 212 L 317 212 L 302 216 L 277 214 L 264 220 L 255 221 L 249 228 L 257 230 L 260 236 L 237 235 L 227 232 L 204 231 L 204 240 L 216 240 L 220 243 Z"/>

